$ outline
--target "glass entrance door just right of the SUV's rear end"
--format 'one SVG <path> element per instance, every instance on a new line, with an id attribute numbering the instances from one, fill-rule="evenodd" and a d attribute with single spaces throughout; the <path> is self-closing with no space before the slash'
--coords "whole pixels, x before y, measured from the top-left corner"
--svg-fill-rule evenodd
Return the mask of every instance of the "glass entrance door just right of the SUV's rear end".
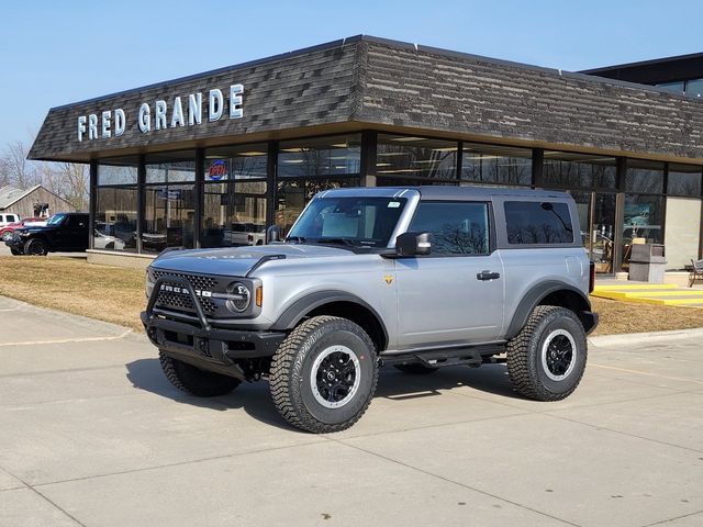
<path id="1" fill-rule="evenodd" d="M 615 247 L 616 194 L 607 192 L 571 192 L 579 211 L 581 238 L 595 272 L 612 274 Z"/>

